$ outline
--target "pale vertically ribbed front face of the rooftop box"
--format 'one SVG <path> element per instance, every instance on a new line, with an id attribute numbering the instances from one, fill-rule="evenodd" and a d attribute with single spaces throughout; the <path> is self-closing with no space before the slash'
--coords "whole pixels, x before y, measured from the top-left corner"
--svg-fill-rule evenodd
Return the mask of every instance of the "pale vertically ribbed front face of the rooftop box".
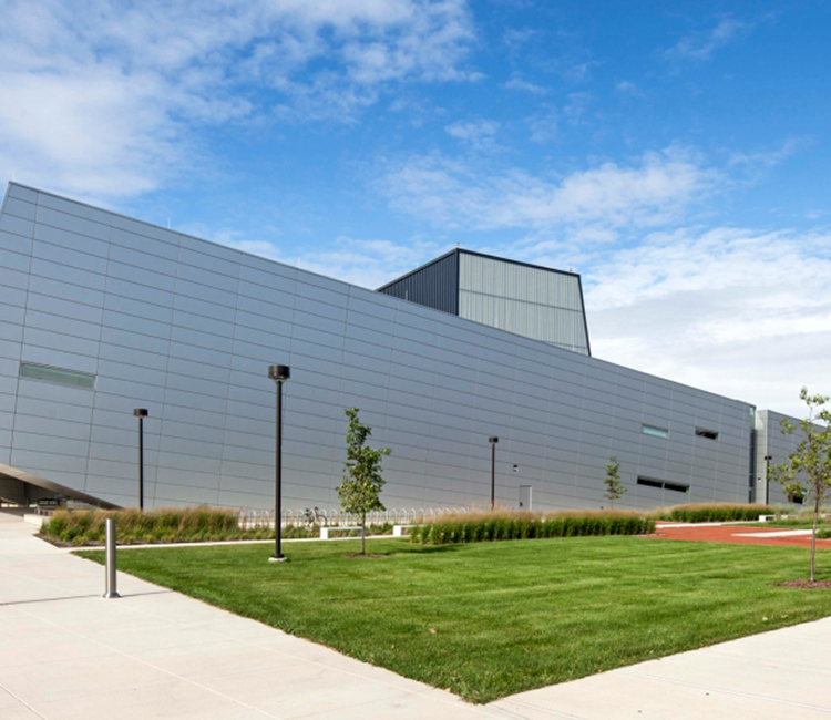
<path id="1" fill-rule="evenodd" d="M 459 316 L 589 354 L 579 277 L 462 253 Z"/>

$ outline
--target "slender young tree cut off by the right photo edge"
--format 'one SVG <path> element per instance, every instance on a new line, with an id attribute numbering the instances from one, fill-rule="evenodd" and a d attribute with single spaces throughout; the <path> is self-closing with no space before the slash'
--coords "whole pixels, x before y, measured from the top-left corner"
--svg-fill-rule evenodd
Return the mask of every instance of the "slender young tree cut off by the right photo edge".
<path id="1" fill-rule="evenodd" d="M 823 500 L 831 497 L 831 411 L 824 408 L 828 395 L 809 395 L 808 388 L 802 388 L 799 397 L 808 405 L 808 418 L 799 421 L 802 439 L 797 450 L 788 455 L 788 462 L 777 465 L 772 474 L 784 485 L 787 493 L 808 497 L 813 504 L 810 577 L 813 583 L 820 505 Z M 818 425 L 818 421 L 824 424 Z M 782 419 L 783 434 L 790 435 L 796 431 L 796 425 Z"/>

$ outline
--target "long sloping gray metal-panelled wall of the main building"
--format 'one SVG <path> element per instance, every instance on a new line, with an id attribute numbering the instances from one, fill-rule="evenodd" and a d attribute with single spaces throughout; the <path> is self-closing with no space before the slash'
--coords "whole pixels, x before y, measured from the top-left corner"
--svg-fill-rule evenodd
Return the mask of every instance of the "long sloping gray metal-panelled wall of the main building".
<path id="1" fill-rule="evenodd" d="M 136 504 L 143 407 L 145 506 L 271 506 L 270 363 L 291 367 L 286 508 L 338 506 L 350 407 L 392 449 L 392 507 L 488 503 L 490 435 L 511 506 L 604 505 L 613 454 L 623 507 L 747 500 L 743 402 L 16 184 L 0 274 L 0 464 L 112 503 Z"/>

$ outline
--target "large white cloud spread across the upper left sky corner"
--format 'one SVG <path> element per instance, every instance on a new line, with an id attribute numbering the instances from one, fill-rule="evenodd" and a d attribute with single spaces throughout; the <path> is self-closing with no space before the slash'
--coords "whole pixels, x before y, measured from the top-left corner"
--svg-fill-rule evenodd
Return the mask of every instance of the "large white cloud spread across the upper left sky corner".
<path id="1" fill-rule="evenodd" d="M 269 105 L 349 122 L 389 83 L 480 76 L 464 0 L 0 0 L 0 174 L 99 202 L 191 169 L 208 125 Z"/>

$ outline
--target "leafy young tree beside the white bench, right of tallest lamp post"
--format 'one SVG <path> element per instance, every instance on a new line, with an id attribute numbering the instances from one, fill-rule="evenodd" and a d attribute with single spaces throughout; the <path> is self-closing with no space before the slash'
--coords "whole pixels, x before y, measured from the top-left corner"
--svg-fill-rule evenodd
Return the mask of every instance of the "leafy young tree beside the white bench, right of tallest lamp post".
<path id="1" fill-rule="evenodd" d="M 347 513 L 360 515 L 361 555 L 367 554 L 367 513 L 386 510 L 380 500 L 384 480 L 381 477 L 381 457 L 390 454 L 389 448 L 373 450 L 367 438 L 372 429 L 358 420 L 358 408 L 343 410 L 349 418 L 347 430 L 347 461 L 343 464 L 343 479 L 338 487 L 340 504 Z"/>

